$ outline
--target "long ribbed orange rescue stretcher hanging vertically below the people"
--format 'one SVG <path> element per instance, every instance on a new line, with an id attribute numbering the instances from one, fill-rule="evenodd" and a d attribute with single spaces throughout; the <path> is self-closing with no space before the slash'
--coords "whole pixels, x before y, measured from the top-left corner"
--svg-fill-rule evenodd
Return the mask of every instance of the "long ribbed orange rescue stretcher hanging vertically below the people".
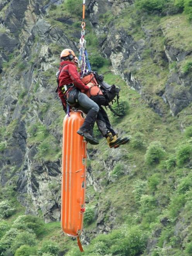
<path id="1" fill-rule="evenodd" d="M 77 134 L 83 122 L 81 111 L 70 112 L 63 120 L 61 224 L 67 235 L 77 239 L 85 211 L 87 148 L 86 141 Z"/>

